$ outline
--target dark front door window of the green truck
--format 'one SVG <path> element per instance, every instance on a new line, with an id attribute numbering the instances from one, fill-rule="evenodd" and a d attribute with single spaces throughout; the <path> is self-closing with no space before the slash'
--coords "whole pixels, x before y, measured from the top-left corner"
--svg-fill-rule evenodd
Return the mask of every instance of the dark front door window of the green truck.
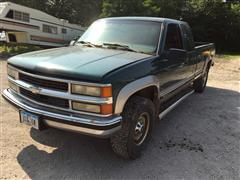
<path id="1" fill-rule="evenodd" d="M 165 50 L 169 50 L 171 48 L 183 49 L 182 35 L 177 24 L 168 25 Z"/>

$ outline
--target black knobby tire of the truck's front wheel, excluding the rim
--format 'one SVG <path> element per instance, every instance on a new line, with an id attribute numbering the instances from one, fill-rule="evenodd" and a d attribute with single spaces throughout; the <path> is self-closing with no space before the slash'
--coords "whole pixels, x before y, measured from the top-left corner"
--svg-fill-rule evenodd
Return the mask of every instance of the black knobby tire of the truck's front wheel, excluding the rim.
<path id="1" fill-rule="evenodd" d="M 144 141 L 137 145 L 134 141 L 134 132 L 136 131 L 138 118 L 143 113 L 147 113 L 148 117 L 150 117 L 149 128 Z M 122 129 L 111 137 L 111 146 L 117 155 L 126 159 L 136 159 L 141 156 L 141 152 L 146 147 L 154 127 L 154 104 L 150 99 L 134 96 L 126 103 L 122 117 Z"/>

